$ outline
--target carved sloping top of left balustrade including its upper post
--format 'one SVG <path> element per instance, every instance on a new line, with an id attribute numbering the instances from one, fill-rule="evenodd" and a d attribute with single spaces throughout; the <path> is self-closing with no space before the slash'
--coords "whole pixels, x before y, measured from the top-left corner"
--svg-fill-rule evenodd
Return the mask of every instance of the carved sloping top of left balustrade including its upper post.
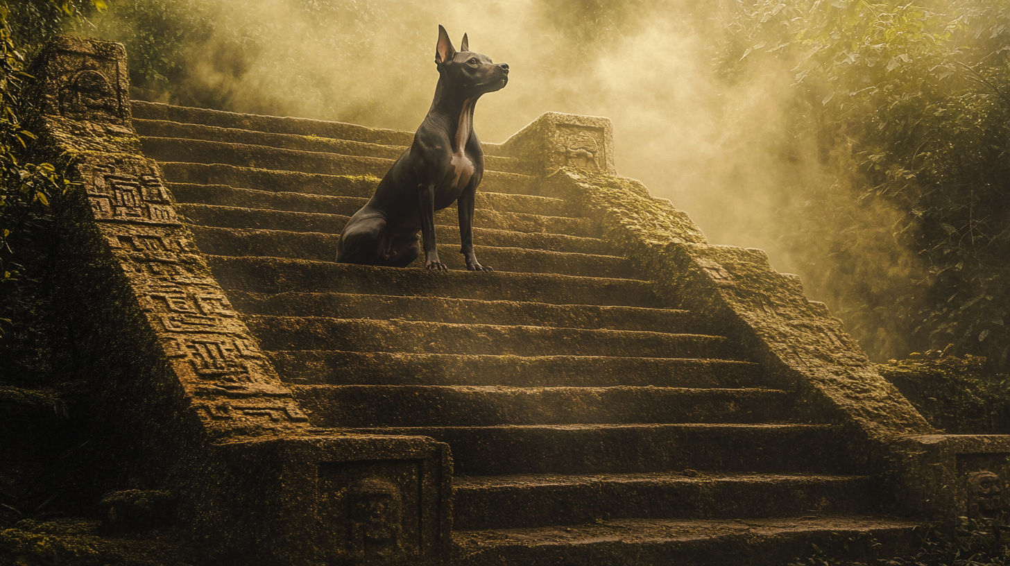
<path id="1" fill-rule="evenodd" d="M 193 409 L 216 429 L 307 427 L 193 245 L 158 165 L 131 142 L 122 45 L 61 36 L 40 61 L 49 135 L 75 154 L 98 230 Z"/>

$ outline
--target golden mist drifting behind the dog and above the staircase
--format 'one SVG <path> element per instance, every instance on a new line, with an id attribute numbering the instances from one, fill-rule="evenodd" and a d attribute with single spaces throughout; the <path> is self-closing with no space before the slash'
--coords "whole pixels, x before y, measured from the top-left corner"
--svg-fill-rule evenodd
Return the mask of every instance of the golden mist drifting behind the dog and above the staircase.
<path id="1" fill-rule="evenodd" d="M 442 24 L 457 48 L 466 32 L 472 51 L 510 66 L 508 86 L 478 104 L 475 129 L 483 140 L 504 142 L 546 111 L 606 116 L 620 175 L 671 199 L 711 243 L 766 250 L 777 270 L 804 276 L 808 296 L 825 300 L 836 314 L 845 311 L 846 293 L 888 302 L 882 286 L 889 283 L 874 279 L 878 268 L 881 276 L 897 270 L 906 278 L 921 270 L 914 254 L 881 229 L 895 221 L 883 203 L 824 218 L 795 190 L 850 197 L 850 188 L 825 173 L 832 158 L 817 155 L 816 131 L 791 119 L 798 62 L 766 57 L 727 71 L 739 61 L 726 21 L 738 6 L 732 0 L 152 5 L 159 3 L 113 3 L 90 31 L 139 45 L 131 58 L 163 57 L 145 67 L 161 66 L 166 75 L 146 77 L 135 98 L 414 130 L 438 78 L 433 59 Z M 164 35 L 138 37 L 141 20 Z M 145 51 L 145 44 L 154 46 Z M 160 55 L 171 51 L 164 45 L 174 50 L 172 58 Z M 821 223 L 825 237 L 813 239 L 814 250 L 787 237 L 798 222 Z M 830 273 L 824 264 L 854 253 L 838 249 L 851 248 L 851 240 L 839 244 L 830 235 L 844 230 L 869 230 L 856 262 L 863 273 L 851 288 L 811 275 Z M 855 329 L 857 339 L 893 334 Z M 897 339 L 881 340 L 890 342 L 868 348 L 878 358 L 907 352 L 904 343 L 892 344 Z"/>

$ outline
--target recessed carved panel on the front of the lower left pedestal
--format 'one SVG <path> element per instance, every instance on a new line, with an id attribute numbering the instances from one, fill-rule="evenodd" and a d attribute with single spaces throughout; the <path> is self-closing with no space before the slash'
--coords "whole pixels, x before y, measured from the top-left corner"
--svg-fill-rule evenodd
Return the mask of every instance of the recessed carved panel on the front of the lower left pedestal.
<path id="1" fill-rule="evenodd" d="M 421 467 L 415 460 L 320 463 L 318 520 L 340 564 L 417 562 Z"/>

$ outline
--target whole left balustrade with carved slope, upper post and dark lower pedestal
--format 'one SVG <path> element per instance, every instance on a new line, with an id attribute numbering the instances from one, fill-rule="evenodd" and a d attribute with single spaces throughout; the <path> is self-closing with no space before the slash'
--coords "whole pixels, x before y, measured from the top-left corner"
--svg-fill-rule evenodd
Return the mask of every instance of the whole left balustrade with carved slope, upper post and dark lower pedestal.
<path id="1" fill-rule="evenodd" d="M 59 203 L 58 272 L 96 391 L 97 487 L 158 489 L 107 497 L 105 530 L 163 525 L 167 490 L 206 564 L 439 562 L 445 447 L 309 428 L 140 154 L 122 46 L 60 37 L 32 74 L 35 129 L 80 183 Z M 380 503 L 389 512 L 370 515 Z"/>

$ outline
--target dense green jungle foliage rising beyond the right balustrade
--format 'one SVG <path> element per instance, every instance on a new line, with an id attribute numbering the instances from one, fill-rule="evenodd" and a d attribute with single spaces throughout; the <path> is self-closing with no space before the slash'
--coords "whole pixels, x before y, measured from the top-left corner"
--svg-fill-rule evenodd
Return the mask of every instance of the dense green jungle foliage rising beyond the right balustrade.
<path id="1" fill-rule="evenodd" d="M 726 80 L 793 66 L 784 152 L 812 148 L 819 174 L 783 187 L 781 233 L 813 293 L 879 359 L 953 344 L 1005 369 L 1010 4 L 734 0 L 726 13 Z"/>

